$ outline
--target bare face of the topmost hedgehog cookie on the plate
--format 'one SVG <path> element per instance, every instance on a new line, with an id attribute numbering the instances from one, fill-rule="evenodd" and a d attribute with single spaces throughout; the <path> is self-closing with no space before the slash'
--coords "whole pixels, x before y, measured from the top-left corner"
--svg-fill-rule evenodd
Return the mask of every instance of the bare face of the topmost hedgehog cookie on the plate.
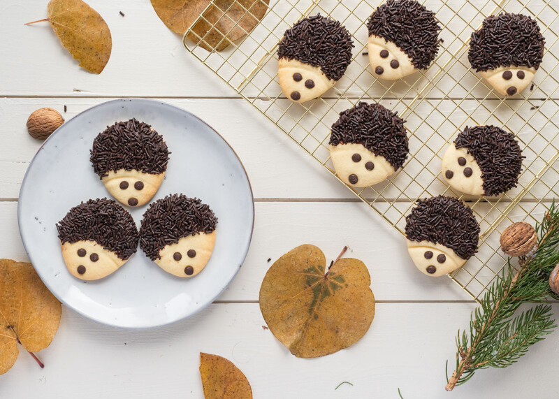
<path id="1" fill-rule="evenodd" d="M 132 169 L 120 169 L 119 171 L 110 171 L 106 176 L 101 178 L 103 184 L 115 197 L 119 203 L 125 203 L 129 206 L 142 206 L 148 203 L 157 190 L 163 179 L 164 173 L 156 175 L 152 173 L 142 173 Z"/>

